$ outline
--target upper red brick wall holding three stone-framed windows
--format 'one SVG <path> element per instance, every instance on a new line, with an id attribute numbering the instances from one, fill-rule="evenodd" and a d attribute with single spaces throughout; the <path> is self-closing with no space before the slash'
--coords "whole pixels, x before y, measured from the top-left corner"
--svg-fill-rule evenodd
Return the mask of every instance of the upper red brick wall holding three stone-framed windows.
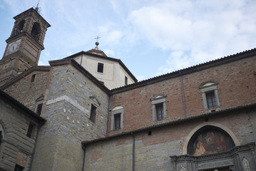
<path id="1" fill-rule="evenodd" d="M 217 110 L 256 103 L 255 61 L 256 56 L 183 75 L 187 117 L 210 112 L 203 107 L 203 97 L 199 89 L 199 86 L 206 81 L 217 82 L 217 93 L 220 100 L 220 108 Z M 115 105 L 124 106 L 123 129 L 111 131 L 111 125 L 108 124 L 109 135 L 185 118 L 181 87 L 178 76 L 142 87 L 131 88 L 121 93 L 115 93 L 113 90 L 110 108 Z M 153 122 L 150 98 L 159 94 L 166 95 L 166 118 Z M 111 117 L 108 120 L 108 123 L 111 123 Z"/>

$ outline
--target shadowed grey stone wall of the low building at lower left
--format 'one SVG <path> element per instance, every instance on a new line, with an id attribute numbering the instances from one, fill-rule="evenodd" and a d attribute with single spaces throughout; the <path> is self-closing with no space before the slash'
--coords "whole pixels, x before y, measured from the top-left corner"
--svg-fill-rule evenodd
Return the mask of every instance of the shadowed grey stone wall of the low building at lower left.
<path id="1" fill-rule="evenodd" d="M 29 123 L 34 124 L 31 138 L 26 136 Z M 0 100 L 0 125 L 3 140 L 0 146 L 0 170 L 14 170 L 15 165 L 28 171 L 38 129 L 38 123 L 19 108 Z"/>

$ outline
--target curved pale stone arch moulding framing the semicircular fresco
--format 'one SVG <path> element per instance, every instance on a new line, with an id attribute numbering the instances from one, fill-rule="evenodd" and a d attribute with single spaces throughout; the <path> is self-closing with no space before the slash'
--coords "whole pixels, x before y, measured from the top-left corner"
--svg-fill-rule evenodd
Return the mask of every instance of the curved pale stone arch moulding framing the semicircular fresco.
<path id="1" fill-rule="evenodd" d="M 193 137 L 193 135 L 200 130 L 201 128 L 205 127 L 205 126 L 213 126 L 215 128 L 220 128 L 221 130 L 224 130 L 225 133 L 227 133 L 227 135 L 230 136 L 230 138 L 233 140 L 233 142 L 235 143 L 235 146 L 240 145 L 239 140 L 237 139 L 237 137 L 235 136 L 235 133 L 232 132 L 232 130 L 230 130 L 230 128 L 227 128 L 227 126 L 222 125 L 220 123 L 215 123 L 215 122 L 207 122 L 207 123 L 201 123 L 200 125 L 198 125 L 197 127 L 195 127 L 193 130 L 190 131 L 190 133 L 188 134 L 187 138 L 185 138 L 185 141 L 183 143 L 183 155 L 187 155 L 188 152 L 188 142 L 190 141 L 190 139 Z"/>

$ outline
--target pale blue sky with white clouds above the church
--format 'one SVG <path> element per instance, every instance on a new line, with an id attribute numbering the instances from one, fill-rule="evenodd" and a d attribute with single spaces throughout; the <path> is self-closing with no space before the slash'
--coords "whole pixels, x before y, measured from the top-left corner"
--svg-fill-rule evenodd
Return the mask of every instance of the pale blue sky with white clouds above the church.
<path id="1" fill-rule="evenodd" d="M 0 0 L 0 55 L 13 17 L 35 0 Z M 51 27 L 39 65 L 95 47 L 139 81 L 256 48 L 255 0 L 41 0 Z"/>

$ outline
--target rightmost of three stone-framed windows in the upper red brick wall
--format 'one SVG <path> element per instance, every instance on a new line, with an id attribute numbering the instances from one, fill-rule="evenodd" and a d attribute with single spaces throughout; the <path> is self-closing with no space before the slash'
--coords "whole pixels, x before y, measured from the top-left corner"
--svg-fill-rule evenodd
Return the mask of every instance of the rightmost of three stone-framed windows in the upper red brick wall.
<path id="1" fill-rule="evenodd" d="M 203 97 L 203 106 L 205 110 L 215 110 L 220 108 L 220 100 L 217 95 L 217 83 L 207 81 L 200 85 L 200 91 Z"/>

